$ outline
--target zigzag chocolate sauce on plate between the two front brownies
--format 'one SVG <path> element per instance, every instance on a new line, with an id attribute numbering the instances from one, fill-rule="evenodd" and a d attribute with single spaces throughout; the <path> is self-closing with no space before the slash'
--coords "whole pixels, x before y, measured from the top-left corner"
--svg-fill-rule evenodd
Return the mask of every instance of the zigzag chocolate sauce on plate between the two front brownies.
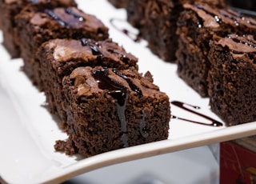
<path id="1" fill-rule="evenodd" d="M 173 102 L 171 102 L 171 104 L 173 104 L 174 106 L 178 106 L 179 108 L 182 108 L 183 110 L 186 110 L 190 113 L 197 114 L 198 116 L 200 116 L 202 118 L 206 118 L 211 123 L 209 124 L 209 123 L 205 123 L 205 122 L 196 122 L 196 121 L 186 119 L 186 118 L 179 118 L 179 117 L 174 116 L 174 115 L 172 115 L 171 118 L 180 119 L 180 120 L 183 120 L 183 121 L 186 121 L 186 122 L 194 122 L 194 123 L 197 123 L 197 124 L 200 124 L 200 125 L 205 125 L 205 126 L 223 126 L 222 122 L 218 122 L 218 121 L 214 120 L 213 118 L 210 118 L 210 117 L 208 117 L 204 114 L 200 114 L 200 113 L 198 113 L 194 110 L 190 110 L 190 109 L 186 108 L 186 106 L 190 106 L 190 107 L 193 107 L 194 109 L 200 109 L 199 106 L 192 106 L 190 104 L 187 104 L 187 103 L 184 103 L 184 102 L 178 102 L 178 101 L 173 101 Z"/>

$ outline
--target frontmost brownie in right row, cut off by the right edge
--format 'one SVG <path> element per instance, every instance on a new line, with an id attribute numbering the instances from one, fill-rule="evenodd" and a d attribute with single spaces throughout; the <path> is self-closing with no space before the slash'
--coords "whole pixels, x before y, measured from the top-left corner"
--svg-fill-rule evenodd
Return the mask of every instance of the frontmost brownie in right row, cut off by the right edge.
<path id="1" fill-rule="evenodd" d="M 230 34 L 210 42 L 210 106 L 229 126 L 256 121 L 256 41 Z"/>

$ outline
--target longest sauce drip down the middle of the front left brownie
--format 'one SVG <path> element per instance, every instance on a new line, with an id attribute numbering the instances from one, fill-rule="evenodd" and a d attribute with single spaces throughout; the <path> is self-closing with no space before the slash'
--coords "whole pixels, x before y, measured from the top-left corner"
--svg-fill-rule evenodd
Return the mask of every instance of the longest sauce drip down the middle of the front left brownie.
<path id="1" fill-rule="evenodd" d="M 129 90 L 125 86 L 122 86 L 112 78 L 108 77 L 108 70 L 95 70 L 92 76 L 97 80 L 98 87 L 102 90 L 108 90 L 108 94 L 114 98 L 117 105 L 118 118 L 121 122 L 122 144 L 123 147 L 129 146 L 125 115 L 126 100 L 128 98 Z"/>

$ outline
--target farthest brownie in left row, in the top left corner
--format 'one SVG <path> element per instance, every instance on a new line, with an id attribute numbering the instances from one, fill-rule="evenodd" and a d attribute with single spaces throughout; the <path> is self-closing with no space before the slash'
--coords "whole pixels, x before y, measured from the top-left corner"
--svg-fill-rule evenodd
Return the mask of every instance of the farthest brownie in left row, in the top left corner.
<path id="1" fill-rule="evenodd" d="M 0 1 L 0 29 L 3 31 L 3 46 L 10 53 L 11 58 L 20 57 L 20 49 L 17 43 L 16 24 L 14 18 L 25 6 L 34 6 L 40 9 L 57 6 L 77 6 L 74 0 L 57 1 L 29 1 L 29 0 L 1 0 Z"/>

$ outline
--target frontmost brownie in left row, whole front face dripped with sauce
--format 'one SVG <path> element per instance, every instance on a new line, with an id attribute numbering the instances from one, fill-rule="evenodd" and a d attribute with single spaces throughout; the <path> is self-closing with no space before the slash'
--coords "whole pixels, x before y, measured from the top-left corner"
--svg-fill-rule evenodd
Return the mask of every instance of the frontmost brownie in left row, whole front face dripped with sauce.
<path id="1" fill-rule="evenodd" d="M 170 102 L 137 70 L 79 67 L 63 79 L 66 142 L 56 150 L 86 157 L 168 138 Z"/>

